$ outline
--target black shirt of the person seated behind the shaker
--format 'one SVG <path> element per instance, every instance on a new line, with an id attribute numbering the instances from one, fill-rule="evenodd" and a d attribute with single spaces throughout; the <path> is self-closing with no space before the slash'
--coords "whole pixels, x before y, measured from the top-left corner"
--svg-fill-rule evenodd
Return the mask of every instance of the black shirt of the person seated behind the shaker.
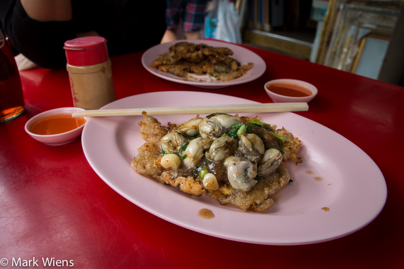
<path id="1" fill-rule="evenodd" d="M 95 30 L 107 39 L 109 55 L 118 55 L 159 44 L 166 29 L 165 0 L 72 0 L 73 19 L 65 22 L 31 19 L 20 0 L 0 2 L 2 30 L 19 53 L 44 68 L 65 68 L 63 44 L 79 32 Z"/>

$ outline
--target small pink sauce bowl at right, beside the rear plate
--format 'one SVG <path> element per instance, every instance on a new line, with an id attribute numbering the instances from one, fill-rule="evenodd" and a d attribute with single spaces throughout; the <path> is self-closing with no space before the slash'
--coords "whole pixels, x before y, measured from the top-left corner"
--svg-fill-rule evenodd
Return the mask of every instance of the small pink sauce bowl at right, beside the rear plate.
<path id="1" fill-rule="evenodd" d="M 271 92 L 268 90 L 269 85 L 273 84 L 286 84 L 286 85 L 291 85 L 291 86 L 300 86 L 303 87 L 311 92 L 311 95 L 309 96 L 304 96 L 304 97 L 290 97 L 290 96 L 285 96 L 285 95 L 279 95 L 275 92 Z M 305 82 L 303 80 L 292 80 L 292 79 L 278 79 L 278 80 L 270 80 L 264 85 L 264 89 L 267 92 L 267 95 L 271 97 L 272 101 L 275 103 L 296 103 L 296 102 L 304 102 L 308 103 L 311 101 L 314 97 L 316 97 L 318 90 L 316 86 L 313 84 L 310 84 L 308 82 Z"/>

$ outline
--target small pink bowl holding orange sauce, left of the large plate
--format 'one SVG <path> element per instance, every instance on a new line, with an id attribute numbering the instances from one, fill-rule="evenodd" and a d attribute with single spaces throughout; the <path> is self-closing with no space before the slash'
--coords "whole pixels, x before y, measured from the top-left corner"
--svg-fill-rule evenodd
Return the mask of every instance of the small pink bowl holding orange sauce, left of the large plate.
<path id="1" fill-rule="evenodd" d="M 25 123 L 25 132 L 27 132 L 27 134 L 29 136 L 31 136 L 33 139 L 35 139 L 39 142 L 42 142 L 46 145 L 58 146 L 58 145 L 64 145 L 64 144 L 73 142 L 78 137 L 80 137 L 80 135 L 83 131 L 83 128 L 84 128 L 84 124 L 86 124 L 85 122 L 83 125 L 79 126 L 76 129 L 70 130 L 68 132 L 62 132 L 62 133 L 56 134 L 56 135 L 37 135 L 37 134 L 34 134 L 33 132 L 31 132 L 30 129 L 31 129 L 32 124 L 34 122 L 36 122 L 37 120 L 39 120 L 40 118 L 48 117 L 48 116 L 55 115 L 55 114 L 75 113 L 79 110 L 85 110 L 85 109 L 78 108 L 78 107 L 60 107 L 60 108 L 50 109 L 48 111 L 39 113 L 38 115 L 30 118 L 27 121 L 27 123 Z M 88 117 L 84 117 L 84 119 L 87 121 Z"/>

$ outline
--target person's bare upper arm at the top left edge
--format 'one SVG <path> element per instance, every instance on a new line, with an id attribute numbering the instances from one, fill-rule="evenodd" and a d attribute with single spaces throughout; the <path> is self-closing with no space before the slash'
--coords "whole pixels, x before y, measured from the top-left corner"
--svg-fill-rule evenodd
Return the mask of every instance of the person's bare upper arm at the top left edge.
<path id="1" fill-rule="evenodd" d="M 27 15 L 37 21 L 70 21 L 71 0 L 21 0 Z"/>

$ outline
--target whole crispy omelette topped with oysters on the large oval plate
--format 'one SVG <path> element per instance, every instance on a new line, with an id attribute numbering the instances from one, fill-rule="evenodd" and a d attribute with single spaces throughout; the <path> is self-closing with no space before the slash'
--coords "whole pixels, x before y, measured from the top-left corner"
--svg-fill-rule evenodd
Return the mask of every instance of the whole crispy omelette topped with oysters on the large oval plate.
<path id="1" fill-rule="evenodd" d="M 208 192 L 221 204 L 265 210 L 274 205 L 269 195 L 289 182 L 282 163 L 302 162 L 301 141 L 258 117 L 215 113 L 162 126 L 146 112 L 143 116 L 139 125 L 146 143 L 132 168 L 194 196 Z"/>

